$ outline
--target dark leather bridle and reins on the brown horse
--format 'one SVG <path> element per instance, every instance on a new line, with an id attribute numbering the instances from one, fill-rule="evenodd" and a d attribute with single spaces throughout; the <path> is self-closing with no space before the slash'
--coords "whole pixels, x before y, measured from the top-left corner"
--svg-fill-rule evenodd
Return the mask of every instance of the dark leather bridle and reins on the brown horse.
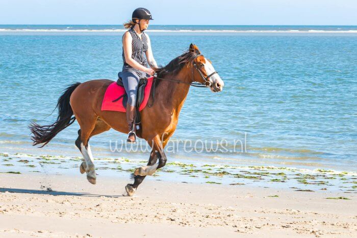
<path id="1" fill-rule="evenodd" d="M 211 74 L 209 74 L 209 75 L 207 75 L 206 77 L 205 77 L 205 75 L 203 75 L 203 73 L 202 73 L 202 71 L 199 69 L 199 68 L 201 68 L 201 67 L 198 67 L 197 65 L 196 65 L 196 63 L 194 62 L 194 60 L 195 59 L 197 59 L 197 57 L 199 57 L 199 56 L 203 56 L 203 55 L 197 55 L 193 60 L 192 60 L 192 82 L 191 83 L 188 83 L 188 82 L 182 82 L 182 81 L 180 81 L 180 80 L 174 80 L 174 79 L 171 79 L 171 78 L 162 78 L 162 77 L 157 77 L 157 76 L 154 76 L 154 83 L 152 83 L 152 86 L 151 87 L 153 87 L 152 88 L 152 90 L 151 90 L 151 94 L 152 94 L 152 102 L 151 102 L 151 104 L 149 105 L 147 105 L 149 108 L 154 104 L 154 95 L 155 95 L 155 81 L 156 80 L 166 80 L 166 81 L 170 81 L 170 82 L 175 82 L 175 83 L 177 83 L 177 84 L 188 84 L 188 85 L 190 85 L 190 86 L 193 86 L 193 87 L 197 87 L 197 88 L 208 88 L 208 87 L 211 87 L 211 85 L 212 85 L 212 83 L 210 82 L 210 77 L 212 76 L 212 75 L 214 75 L 215 73 L 217 73 L 217 71 L 214 71 L 213 73 L 211 73 Z M 199 83 L 199 82 L 195 82 L 195 81 L 193 81 L 193 68 L 195 68 L 197 71 L 198 71 L 198 73 L 199 73 L 199 75 L 201 76 L 201 78 L 203 79 L 203 81 L 205 81 L 204 83 Z M 218 74 L 218 73 L 217 73 Z"/>

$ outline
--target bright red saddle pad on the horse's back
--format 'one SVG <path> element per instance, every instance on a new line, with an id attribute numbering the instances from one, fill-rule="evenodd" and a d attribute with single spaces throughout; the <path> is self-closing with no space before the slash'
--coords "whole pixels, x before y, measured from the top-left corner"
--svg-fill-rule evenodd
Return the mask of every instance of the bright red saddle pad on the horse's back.
<path id="1" fill-rule="evenodd" d="M 145 108 L 147 101 L 149 100 L 150 89 L 153 79 L 154 77 L 147 78 L 147 84 L 144 89 L 144 99 L 140 104 L 139 111 Z M 106 93 L 104 94 L 103 102 L 101 103 L 101 111 L 126 112 L 126 109 L 123 107 L 124 97 L 121 97 L 119 100 L 113 102 L 113 100 L 117 99 L 123 94 L 125 94 L 124 87 L 117 85 L 116 82 L 111 83 L 108 86 Z"/>

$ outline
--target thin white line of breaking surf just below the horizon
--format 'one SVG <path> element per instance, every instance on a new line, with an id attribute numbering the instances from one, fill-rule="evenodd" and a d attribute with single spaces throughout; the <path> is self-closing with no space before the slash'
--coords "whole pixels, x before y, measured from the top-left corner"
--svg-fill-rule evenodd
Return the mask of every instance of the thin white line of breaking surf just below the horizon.
<path id="1" fill-rule="evenodd" d="M 126 32 L 125 29 L 0 29 L 0 32 Z M 325 30 L 146 30 L 146 32 L 158 33 L 357 33 L 357 30 L 348 31 L 325 31 Z"/>

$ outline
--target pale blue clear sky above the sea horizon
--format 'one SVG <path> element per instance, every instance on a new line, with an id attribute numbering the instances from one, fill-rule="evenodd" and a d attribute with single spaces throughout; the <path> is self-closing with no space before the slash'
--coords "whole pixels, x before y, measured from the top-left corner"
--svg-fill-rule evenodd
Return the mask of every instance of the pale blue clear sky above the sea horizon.
<path id="1" fill-rule="evenodd" d="M 357 25 L 357 0 L 0 0 L 0 24 Z"/>

